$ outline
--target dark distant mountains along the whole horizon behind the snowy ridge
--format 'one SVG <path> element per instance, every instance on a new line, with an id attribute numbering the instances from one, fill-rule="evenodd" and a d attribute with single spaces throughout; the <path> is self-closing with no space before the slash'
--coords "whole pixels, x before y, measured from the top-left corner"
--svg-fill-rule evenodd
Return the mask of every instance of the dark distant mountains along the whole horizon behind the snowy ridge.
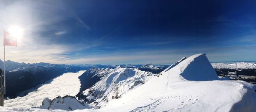
<path id="1" fill-rule="evenodd" d="M 77 97 L 84 99 L 81 94 L 84 90 L 92 87 L 103 76 L 109 74 L 111 69 L 116 67 L 137 69 L 153 74 L 165 72 L 175 65 L 179 64 L 186 57 L 171 66 L 154 66 L 153 64 L 120 64 L 120 65 L 101 65 L 101 64 L 49 64 L 49 63 L 18 63 L 10 60 L 6 61 L 6 97 L 15 98 L 26 95 L 25 90 L 39 86 L 57 76 L 67 72 L 77 72 L 87 70 L 79 77 L 81 81 L 80 92 Z M 244 80 L 250 83 L 256 83 L 256 64 L 250 63 L 212 63 L 216 73 L 220 77 L 229 77 L 232 80 Z M 3 61 L 0 60 L 0 68 L 3 70 Z M 2 72 L 3 75 L 3 72 Z M 22 94 L 21 94 L 22 92 Z"/>

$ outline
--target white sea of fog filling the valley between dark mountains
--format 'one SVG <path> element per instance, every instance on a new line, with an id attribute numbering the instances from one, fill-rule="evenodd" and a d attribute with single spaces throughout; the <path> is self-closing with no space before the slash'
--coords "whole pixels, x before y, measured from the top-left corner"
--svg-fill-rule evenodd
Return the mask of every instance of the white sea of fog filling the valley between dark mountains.
<path id="1" fill-rule="evenodd" d="M 45 98 L 56 98 L 57 96 L 72 95 L 75 96 L 80 89 L 80 81 L 78 77 L 85 71 L 78 73 L 64 73 L 63 75 L 53 79 L 49 84 L 43 84 L 37 90 L 29 92 L 28 95 L 8 99 L 4 101 L 5 107 L 14 108 L 30 108 L 41 106 Z M 7 88 L 8 89 L 8 88 Z"/>

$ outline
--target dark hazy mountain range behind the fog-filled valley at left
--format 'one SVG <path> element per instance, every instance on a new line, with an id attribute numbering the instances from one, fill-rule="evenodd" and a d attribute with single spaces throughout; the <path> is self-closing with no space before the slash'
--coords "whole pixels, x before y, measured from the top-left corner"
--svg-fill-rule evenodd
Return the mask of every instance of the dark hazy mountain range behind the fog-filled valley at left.
<path id="1" fill-rule="evenodd" d="M 0 60 L 0 67 L 3 70 L 3 61 Z M 67 72 L 77 72 L 88 69 L 88 65 L 66 65 L 35 63 L 26 64 L 6 61 L 6 95 L 5 97 L 15 98 L 26 95 L 23 91 L 37 87 L 46 81 Z M 3 75 L 3 72 L 2 72 Z M 23 92 L 23 94 L 19 94 Z"/>

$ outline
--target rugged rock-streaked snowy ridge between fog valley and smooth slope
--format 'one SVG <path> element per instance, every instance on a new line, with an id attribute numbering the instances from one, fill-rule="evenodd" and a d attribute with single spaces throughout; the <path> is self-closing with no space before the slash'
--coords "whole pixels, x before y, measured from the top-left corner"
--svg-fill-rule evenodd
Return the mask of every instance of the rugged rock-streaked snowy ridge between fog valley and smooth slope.
<path id="1" fill-rule="evenodd" d="M 101 71 L 104 71 L 105 76 L 92 87 L 82 92 L 86 96 L 84 101 L 97 107 L 105 106 L 109 101 L 120 98 L 125 92 L 157 76 L 157 74 L 136 68 L 122 68 L 120 66 Z"/>

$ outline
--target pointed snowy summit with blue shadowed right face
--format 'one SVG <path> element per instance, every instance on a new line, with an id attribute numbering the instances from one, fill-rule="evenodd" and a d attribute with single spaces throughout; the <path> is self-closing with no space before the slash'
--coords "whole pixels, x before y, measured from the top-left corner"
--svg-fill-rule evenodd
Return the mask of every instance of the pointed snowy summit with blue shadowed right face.
<path id="1" fill-rule="evenodd" d="M 169 74 L 180 74 L 184 79 L 190 81 L 211 81 L 220 79 L 205 53 L 190 56 L 167 72 Z"/>

